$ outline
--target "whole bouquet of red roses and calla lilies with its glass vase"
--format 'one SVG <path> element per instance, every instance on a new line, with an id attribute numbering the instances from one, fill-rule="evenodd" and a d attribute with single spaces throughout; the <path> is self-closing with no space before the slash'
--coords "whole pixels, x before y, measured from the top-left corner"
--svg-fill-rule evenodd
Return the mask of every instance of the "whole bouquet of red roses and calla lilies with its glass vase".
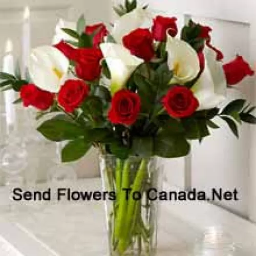
<path id="1" fill-rule="evenodd" d="M 255 124 L 245 99 L 225 101 L 228 87 L 254 72 L 242 56 L 223 65 L 207 26 L 189 20 L 178 31 L 175 17 L 153 17 L 136 0 L 114 9 L 120 17 L 110 29 L 86 25 L 83 15 L 60 20 L 54 44 L 31 51 L 26 77 L 0 73 L 0 86 L 19 92 L 14 103 L 34 106 L 37 118 L 55 113 L 37 130 L 67 141 L 63 162 L 98 148 L 104 189 L 114 192 L 110 255 L 149 256 L 157 241 L 151 192 L 161 183 L 154 157 L 186 156 L 190 140 L 219 129 L 216 118 L 237 137 L 238 124 Z"/>

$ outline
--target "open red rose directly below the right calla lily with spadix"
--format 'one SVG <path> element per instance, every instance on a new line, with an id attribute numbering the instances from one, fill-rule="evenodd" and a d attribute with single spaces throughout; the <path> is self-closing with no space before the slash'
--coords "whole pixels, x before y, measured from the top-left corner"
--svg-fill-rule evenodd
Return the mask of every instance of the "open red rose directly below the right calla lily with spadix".
<path id="1" fill-rule="evenodd" d="M 193 92 L 183 86 L 170 88 L 162 103 L 168 114 L 175 118 L 191 116 L 199 106 Z"/>

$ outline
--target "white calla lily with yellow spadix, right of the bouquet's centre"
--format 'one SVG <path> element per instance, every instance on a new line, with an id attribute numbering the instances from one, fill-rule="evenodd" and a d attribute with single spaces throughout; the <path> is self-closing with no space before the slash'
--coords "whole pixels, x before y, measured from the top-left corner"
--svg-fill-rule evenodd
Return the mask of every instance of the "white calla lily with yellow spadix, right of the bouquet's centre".
<path id="1" fill-rule="evenodd" d="M 172 83 L 192 81 L 200 72 L 197 52 L 187 42 L 167 34 L 168 67 L 174 71 Z"/>

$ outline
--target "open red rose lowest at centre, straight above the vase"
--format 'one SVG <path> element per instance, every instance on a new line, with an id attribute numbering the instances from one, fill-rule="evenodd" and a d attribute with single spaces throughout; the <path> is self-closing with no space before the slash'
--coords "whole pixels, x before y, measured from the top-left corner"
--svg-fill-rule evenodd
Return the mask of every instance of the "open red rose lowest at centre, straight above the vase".
<path id="1" fill-rule="evenodd" d="M 140 112 L 140 97 L 129 90 L 118 91 L 111 101 L 109 119 L 115 124 L 133 124 Z"/>

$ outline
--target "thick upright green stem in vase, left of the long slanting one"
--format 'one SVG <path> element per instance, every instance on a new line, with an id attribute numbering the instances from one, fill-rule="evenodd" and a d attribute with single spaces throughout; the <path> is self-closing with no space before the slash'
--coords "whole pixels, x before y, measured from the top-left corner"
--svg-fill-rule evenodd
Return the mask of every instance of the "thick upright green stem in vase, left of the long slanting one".
<path id="1" fill-rule="evenodd" d="M 130 173 L 130 162 L 129 160 L 126 160 L 124 162 L 123 166 L 123 174 L 122 174 L 122 188 L 129 188 L 129 173 Z M 126 210 L 127 210 L 127 201 L 126 201 L 126 193 L 125 191 L 121 190 L 119 194 L 119 199 L 118 199 L 118 210 L 117 210 L 117 215 L 115 219 L 115 237 L 116 239 L 122 237 L 122 232 L 123 232 L 123 226 L 125 223 L 125 215 L 126 215 Z"/>

